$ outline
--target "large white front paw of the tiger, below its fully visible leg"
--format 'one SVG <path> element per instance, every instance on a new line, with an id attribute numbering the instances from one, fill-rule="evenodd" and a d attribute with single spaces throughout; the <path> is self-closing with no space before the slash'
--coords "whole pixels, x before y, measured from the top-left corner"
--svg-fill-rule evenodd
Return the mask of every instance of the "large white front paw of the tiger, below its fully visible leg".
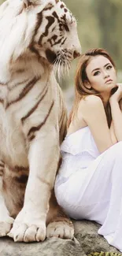
<path id="1" fill-rule="evenodd" d="M 46 238 L 46 224 L 40 218 L 32 217 L 30 213 L 21 210 L 8 236 L 13 238 L 14 242 L 43 241 Z"/>

